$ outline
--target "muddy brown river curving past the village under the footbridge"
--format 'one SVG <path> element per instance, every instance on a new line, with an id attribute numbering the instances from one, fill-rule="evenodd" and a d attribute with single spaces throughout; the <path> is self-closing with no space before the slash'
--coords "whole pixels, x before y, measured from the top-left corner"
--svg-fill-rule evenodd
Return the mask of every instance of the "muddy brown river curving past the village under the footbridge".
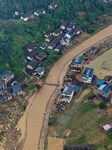
<path id="1" fill-rule="evenodd" d="M 106 27 L 102 31 L 96 33 L 86 41 L 84 41 L 79 46 L 73 48 L 71 51 L 69 51 L 67 54 L 65 54 L 60 60 L 58 60 L 54 66 L 52 67 L 48 77 L 47 77 L 47 83 L 57 84 L 58 81 L 60 83 L 63 82 L 63 76 L 66 73 L 66 70 L 68 68 L 69 60 L 71 60 L 74 56 L 82 52 L 84 49 L 94 45 L 95 43 L 101 41 L 102 39 L 105 39 L 108 36 L 112 35 L 112 25 L 109 27 Z M 18 125 L 18 128 L 21 128 L 23 137 L 25 137 L 25 142 L 23 146 L 23 150 L 37 150 L 39 149 L 39 137 L 40 137 L 40 131 L 42 128 L 42 122 L 43 117 L 45 115 L 45 108 L 46 105 L 52 95 L 52 93 L 55 90 L 55 86 L 49 86 L 45 85 L 41 89 L 41 91 L 37 94 L 37 96 L 32 101 L 31 107 L 27 111 L 27 119 L 24 121 L 23 124 L 21 122 L 20 126 Z M 27 124 L 27 126 L 26 126 Z M 26 126 L 26 136 L 23 126 Z M 40 149 L 42 150 L 42 145 L 40 144 Z"/>

